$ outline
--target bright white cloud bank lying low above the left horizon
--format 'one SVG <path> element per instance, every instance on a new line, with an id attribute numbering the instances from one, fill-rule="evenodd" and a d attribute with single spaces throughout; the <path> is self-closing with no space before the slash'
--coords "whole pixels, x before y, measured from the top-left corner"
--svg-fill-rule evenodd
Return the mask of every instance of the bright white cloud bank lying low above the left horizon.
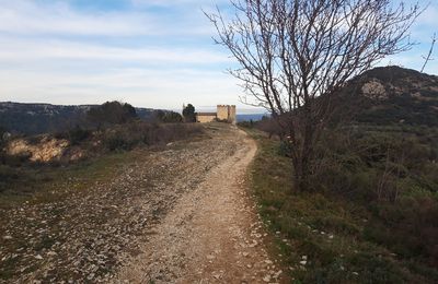
<path id="1" fill-rule="evenodd" d="M 221 72 L 148 69 L 106 70 L 97 74 L 0 71 L 0 100 L 99 104 L 122 99 L 136 106 L 178 108 L 238 103 L 238 86 Z"/>

